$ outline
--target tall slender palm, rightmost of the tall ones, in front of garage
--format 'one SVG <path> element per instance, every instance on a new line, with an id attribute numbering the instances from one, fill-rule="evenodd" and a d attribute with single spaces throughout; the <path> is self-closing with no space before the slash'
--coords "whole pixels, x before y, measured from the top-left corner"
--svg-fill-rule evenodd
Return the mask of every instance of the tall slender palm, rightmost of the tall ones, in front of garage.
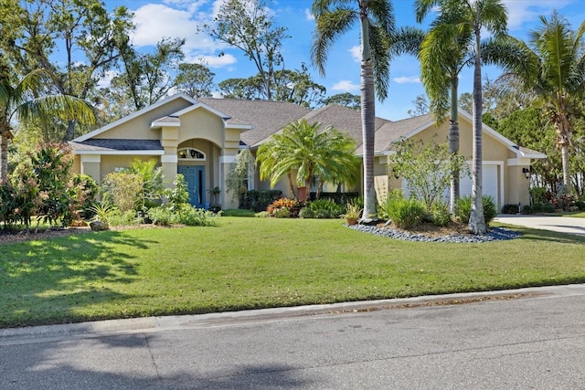
<path id="1" fill-rule="evenodd" d="M 427 15 L 435 6 L 441 8 L 439 19 L 442 27 L 436 30 L 441 40 L 443 42 L 452 41 L 453 47 L 465 44 L 473 47 L 472 213 L 469 218 L 469 229 L 473 234 L 484 234 L 487 227 L 484 219 L 482 188 L 481 31 L 482 28 L 485 28 L 495 37 L 505 35 L 507 11 L 502 0 L 419 0 L 416 14 L 417 16 Z M 436 47 L 439 51 L 432 55 L 437 56 L 439 60 L 447 60 L 444 56 L 452 54 L 453 47 L 450 45 L 445 48 L 445 51 Z"/>

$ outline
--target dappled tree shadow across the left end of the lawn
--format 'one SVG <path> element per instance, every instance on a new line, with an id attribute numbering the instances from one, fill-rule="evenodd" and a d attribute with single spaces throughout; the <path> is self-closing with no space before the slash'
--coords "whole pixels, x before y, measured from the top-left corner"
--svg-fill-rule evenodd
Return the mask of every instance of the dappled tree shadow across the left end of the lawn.
<path id="1" fill-rule="evenodd" d="M 0 327 L 95 320 L 76 310 L 132 298 L 111 286 L 135 279 L 132 253 L 149 243 L 110 231 L 2 246 Z"/>

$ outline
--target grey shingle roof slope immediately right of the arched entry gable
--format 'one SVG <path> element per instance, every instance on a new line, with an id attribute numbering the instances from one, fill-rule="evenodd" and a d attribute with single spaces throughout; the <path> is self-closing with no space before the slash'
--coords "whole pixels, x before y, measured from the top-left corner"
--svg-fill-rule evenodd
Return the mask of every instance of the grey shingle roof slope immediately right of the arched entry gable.
<path id="1" fill-rule="evenodd" d="M 311 109 L 284 101 L 201 98 L 218 111 L 231 115 L 228 123 L 250 123 L 252 129 L 241 133 L 241 141 L 254 146 Z"/>

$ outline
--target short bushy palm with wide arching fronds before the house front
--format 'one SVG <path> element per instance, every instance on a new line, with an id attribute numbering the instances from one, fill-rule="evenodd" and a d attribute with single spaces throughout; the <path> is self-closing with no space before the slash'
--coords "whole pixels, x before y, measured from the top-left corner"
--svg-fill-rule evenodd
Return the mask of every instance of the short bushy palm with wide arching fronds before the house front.
<path id="1" fill-rule="evenodd" d="M 271 141 L 263 143 L 256 154 L 261 180 L 270 177 L 273 187 L 287 175 L 293 194 L 293 171 L 296 182 L 307 188 L 316 176 L 321 180 L 320 187 L 324 182 L 356 183 L 359 176 L 359 159 L 354 154 L 356 142 L 331 126 L 323 132 L 320 129 L 321 123 L 310 124 L 303 119 L 272 135 Z"/>

